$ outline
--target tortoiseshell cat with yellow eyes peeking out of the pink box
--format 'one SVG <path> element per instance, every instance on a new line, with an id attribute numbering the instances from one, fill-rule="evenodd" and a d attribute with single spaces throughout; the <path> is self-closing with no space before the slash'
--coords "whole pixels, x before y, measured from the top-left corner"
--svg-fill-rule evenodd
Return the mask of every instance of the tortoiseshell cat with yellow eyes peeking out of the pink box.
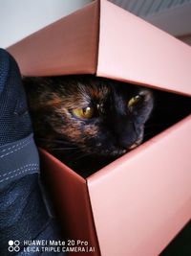
<path id="1" fill-rule="evenodd" d="M 93 75 L 23 79 L 36 144 L 80 175 L 138 147 L 152 90 Z"/>

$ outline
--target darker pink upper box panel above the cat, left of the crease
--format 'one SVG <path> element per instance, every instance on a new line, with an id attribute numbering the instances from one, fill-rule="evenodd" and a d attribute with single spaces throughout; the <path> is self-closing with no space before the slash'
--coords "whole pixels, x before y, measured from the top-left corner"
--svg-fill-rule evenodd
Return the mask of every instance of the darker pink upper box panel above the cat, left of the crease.
<path id="1" fill-rule="evenodd" d="M 98 2 L 93 2 L 7 50 L 25 76 L 95 74 Z"/>

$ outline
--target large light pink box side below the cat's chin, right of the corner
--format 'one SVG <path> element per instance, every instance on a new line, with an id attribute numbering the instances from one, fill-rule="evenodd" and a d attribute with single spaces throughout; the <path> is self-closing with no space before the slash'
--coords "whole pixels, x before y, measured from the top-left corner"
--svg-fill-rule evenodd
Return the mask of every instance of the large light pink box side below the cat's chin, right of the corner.
<path id="1" fill-rule="evenodd" d="M 188 116 L 88 177 L 102 256 L 159 255 L 190 220 L 190 128 Z"/>

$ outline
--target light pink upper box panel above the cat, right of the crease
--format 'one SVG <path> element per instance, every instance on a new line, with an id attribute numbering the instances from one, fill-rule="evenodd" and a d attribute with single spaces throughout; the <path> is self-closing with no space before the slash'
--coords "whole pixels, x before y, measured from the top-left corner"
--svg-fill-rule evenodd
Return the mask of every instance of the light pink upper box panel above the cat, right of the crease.
<path id="1" fill-rule="evenodd" d="M 191 95 L 191 47 L 100 1 L 97 75 Z"/>

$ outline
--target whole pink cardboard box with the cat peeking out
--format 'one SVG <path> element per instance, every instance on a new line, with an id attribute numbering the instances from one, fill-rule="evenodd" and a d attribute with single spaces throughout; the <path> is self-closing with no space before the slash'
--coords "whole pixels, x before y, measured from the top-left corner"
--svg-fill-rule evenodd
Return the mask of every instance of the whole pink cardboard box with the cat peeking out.
<path id="1" fill-rule="evenodd" d="M 106 0 L 8 51 L 26 76 L 96 74 L 191 95 L 191 48 Z M 154 256 L 169 244 L 191 217 L 190 133 L 187 116 L 87 178 L 41 151 L 66 237 L 96 246 L 80 255 Z"/>

